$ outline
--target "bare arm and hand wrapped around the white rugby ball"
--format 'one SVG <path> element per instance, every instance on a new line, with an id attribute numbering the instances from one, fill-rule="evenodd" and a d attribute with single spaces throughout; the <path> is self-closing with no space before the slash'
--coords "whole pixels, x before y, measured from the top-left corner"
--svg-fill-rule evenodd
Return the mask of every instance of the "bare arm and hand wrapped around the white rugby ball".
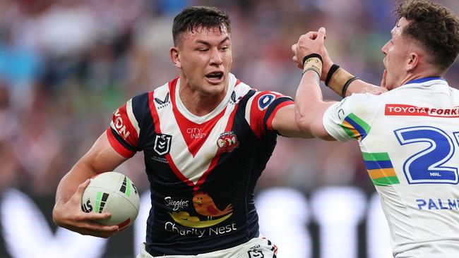
<path id="1" fill-rule="evenodd" d="M 107 134 L 102 133 L 93 147 L 61 179 L 56 190 L 53 209 L 54 222 L 83 235 L 107 238 L 118 231 L 118 226 L 103 226 L 95 220 L 106 219 L 110 214 L 85 213 L 81 211 L 81 197 L 89 184 L 89 178 L 117 168 L 126 161 L 109 144 Z"/>

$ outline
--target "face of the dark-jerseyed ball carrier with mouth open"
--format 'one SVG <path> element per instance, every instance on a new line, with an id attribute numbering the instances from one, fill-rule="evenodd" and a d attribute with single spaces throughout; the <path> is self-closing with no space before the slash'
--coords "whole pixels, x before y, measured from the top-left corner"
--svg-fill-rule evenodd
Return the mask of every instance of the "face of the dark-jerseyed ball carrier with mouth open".
<path id="1" fill-rule="evenodd" d="M 226 93 L 232 63 L 231 38 L 224 28 L 198 27 L 180 35 L 175 66 L 181 68 L 182 79 L 191 90 L 204 96 Z M 171 49 L 171 51 L 172 51 Z"/>

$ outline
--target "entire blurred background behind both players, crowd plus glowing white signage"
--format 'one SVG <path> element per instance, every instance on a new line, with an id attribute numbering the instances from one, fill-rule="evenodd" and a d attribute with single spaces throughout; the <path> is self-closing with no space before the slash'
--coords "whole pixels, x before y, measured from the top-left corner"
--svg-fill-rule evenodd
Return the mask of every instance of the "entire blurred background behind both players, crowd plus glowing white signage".
<path id="1" fill-rule="evenodd" d="M 324 26 L 335 63 L 379 84 L 381 47 L 395 24 L 390 0 L 0 0 L 0 257 L 133 257 L 136 225 L 102 240 L 52 223 L 60 178 L 134 95 L 177 75 L 172 19 L 215 5 L 232 18 L 232 73 L 259 90 L 294 96 L 300 71 L 290 46 Z M 439 1 L 458 13 L 459 1 Z M 459 64 L 446 75 L 459 85 Z M 328 89 L 325 97 L 338 99 Z M 143 155 L 117 171 L 148 197 Z M 262 232 L 279 256 L 391 257 L 355 142 L 280 137 L 257 188 Z"/>

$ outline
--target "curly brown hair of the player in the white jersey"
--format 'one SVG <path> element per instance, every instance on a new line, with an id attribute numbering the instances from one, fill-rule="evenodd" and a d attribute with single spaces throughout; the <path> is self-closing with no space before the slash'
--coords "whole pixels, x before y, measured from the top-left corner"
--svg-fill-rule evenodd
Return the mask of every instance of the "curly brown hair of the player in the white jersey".
<path id="1" fill-rule="evenodd" d="M 459 20 L 453 11 L 427 0 L 405 0 L 395 12 L 411 21 L 403 35 L 421 44 L 431 63 L 442 71 L 454 63 L 459 53 Z"/>

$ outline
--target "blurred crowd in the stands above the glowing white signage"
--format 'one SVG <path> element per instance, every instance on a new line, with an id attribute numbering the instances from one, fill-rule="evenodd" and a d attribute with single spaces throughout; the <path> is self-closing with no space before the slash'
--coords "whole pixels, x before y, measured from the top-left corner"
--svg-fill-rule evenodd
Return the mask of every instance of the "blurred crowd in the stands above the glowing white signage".
<path id="1" fill-rule="evenodd" d="M 459 1 L 439 1 L 458 13 Z M 178 75 L 169 61 L 172 20 L 191 5 L 232 19 L 237 78 L 294 97 L 301 71 L 290 46 L 326 27 L 335 63 L 376 85 L 395 0 L 0 0 L 0 190 L 54 195 L 62 176 L 129 98 Z M 459 86 L 458 62 L 446 75 Z M 328 99 L 339 99 L 328 89 Z M 357 185 L 371 192 L 356 142 L 280 137 L 258 189 Z M 139 188 L 143 154 L 117 168 Z"/>

